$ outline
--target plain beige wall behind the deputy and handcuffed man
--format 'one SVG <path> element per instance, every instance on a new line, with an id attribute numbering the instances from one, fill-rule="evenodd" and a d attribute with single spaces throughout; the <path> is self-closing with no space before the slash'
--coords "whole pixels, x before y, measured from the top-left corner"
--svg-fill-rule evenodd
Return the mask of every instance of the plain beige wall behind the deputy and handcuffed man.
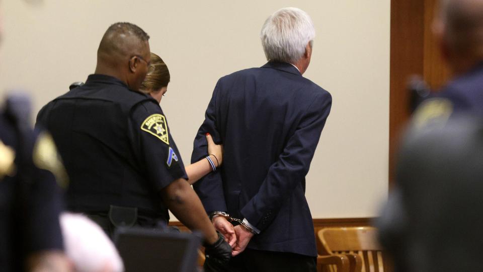
<path id="1" fill-rule="evenodd" d="M 129 21 L 172 75 L 162 101 L 185 163 L 217 79 L 265 57 L 260 28 L 275 10 L 312 17 L 305 77 L 330 91 L 332 112 L 307 176 L 314 218 L 370 217 L 387 195 L 390 1 L 2 1 L 0 92 L 21 88 L 35 113 L 94 72 L 102 34 Z"/>

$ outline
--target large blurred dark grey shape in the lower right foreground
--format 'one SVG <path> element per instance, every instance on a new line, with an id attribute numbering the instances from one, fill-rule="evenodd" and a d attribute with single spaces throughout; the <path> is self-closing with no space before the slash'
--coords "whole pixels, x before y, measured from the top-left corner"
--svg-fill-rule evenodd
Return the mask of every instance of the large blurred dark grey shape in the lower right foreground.
<path id="1" fill-rule="evenodd" d="M 483 271 L 483 122 L 467 115 L 412 127 L 378 220 L 396 271 Z"/>

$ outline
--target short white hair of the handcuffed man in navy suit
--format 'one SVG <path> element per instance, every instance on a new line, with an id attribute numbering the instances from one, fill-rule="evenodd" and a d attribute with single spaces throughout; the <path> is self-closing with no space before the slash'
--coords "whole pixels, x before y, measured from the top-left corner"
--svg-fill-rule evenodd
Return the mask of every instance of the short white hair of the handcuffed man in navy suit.
<path id="1" fill-rule="evenodd" d="M 268 17 L 260 38 L 268 61 L 295 63 L 312 46 L 315 29 L 308 14 L 297 8 L 283 8 Z"/>

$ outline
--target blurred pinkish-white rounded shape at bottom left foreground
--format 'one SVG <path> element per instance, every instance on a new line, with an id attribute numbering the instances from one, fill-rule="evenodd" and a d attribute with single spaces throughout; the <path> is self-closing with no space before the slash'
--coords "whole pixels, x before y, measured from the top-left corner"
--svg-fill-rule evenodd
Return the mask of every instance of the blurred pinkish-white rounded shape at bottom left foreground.
<path id="1" fill-rule="evenodd" d="M 83 215 L 62 213 L 60 227 L 65 253 L 78 272 L 122 272 L 124 265 L 104 231 Z"/>

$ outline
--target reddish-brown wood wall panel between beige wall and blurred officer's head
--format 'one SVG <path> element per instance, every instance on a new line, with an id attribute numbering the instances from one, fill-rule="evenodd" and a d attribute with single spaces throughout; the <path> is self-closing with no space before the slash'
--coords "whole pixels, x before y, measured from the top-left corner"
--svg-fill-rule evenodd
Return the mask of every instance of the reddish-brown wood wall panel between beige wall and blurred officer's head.
<path id="1" fill-rule="evenodd" d="M 408 79 L 422 76 L 432 89 L 451 76 L 432 33 L 438 0 L 391 0 L 389 189 L 394 184 L 397 147 L 409 120 Z"/>

